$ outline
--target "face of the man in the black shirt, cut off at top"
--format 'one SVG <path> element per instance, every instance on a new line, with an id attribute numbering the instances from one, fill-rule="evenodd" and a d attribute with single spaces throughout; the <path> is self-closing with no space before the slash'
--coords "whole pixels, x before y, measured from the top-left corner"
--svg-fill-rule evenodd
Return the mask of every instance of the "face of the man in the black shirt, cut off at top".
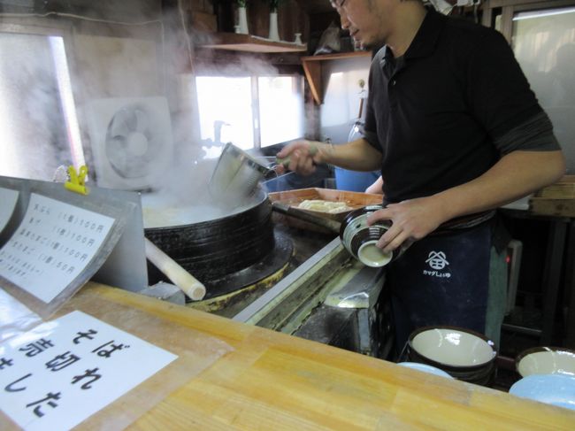
<path id="1" fill-rule="evenodd" d="M 396 0 L 332 0 L 340 14 L 341 27 L 365 48 L 380 46 L 387 40 L 390 13 Z"/>

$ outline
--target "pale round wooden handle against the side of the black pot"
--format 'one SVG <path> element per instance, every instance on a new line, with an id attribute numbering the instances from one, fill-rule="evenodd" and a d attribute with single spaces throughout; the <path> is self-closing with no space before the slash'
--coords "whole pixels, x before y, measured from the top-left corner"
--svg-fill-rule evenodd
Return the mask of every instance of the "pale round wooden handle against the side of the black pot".
<path id="1" fill-rule="evenodd" d="M 154 264 L 164 275 L 178 286 L 186 295 L 194 301 L 199 301 L 205 296 L 205 286 L 191 273 L 188 273 L 178 263 L 170 258 L 164 251 L 157 248 L 156 244 L 144 237 L 146 258 Z"/>

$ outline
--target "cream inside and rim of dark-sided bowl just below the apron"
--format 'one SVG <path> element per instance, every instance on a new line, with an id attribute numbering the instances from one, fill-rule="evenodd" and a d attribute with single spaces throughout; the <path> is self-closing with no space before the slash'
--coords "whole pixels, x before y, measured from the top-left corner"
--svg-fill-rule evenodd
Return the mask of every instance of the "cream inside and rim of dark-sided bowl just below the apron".
<path id="1" fill-rule="evenodd" d="M 483 366 L 495 359 L 494 342 L 455 327 L 422 328 L 410 335 L 410 348 L 441 365 Z"/>

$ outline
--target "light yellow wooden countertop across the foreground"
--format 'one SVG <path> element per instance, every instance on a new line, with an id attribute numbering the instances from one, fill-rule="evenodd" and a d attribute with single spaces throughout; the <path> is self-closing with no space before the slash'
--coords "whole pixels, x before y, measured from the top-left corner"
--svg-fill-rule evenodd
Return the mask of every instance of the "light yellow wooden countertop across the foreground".
<path id="1" fill-rule="evenodd" d="M 229 346 L 192 377 L 181 373 L 178 361 L 167 366 L 177 386 L 166 389 L 170 379 L 164 374 L 156 379 L 149 394 L 165 394 L 147 412 L 135 415 L 128 393 L 97 413 L 113 421 L 132 412 L 129 429 L 575 429 L 570 410 L 95 283 L 59 314 L 73 310 L 114 325 L 137 319 L 130 327 L 142 331 L 134 335 L 176 350 L 180 358 L 203 355 L 208 344 L 190 342 L 198 337 Z M 166 327 L 177 329 L 177 336 Z M 11 421 L 0 412 L 0 422 L 5 429 Z M 78 428 L 95 424 L 88 419 Z"/>

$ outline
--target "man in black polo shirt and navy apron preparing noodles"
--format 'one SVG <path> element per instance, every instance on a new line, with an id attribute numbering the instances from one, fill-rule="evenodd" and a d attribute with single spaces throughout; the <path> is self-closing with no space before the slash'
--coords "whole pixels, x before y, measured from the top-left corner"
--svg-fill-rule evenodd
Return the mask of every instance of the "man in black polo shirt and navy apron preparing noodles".
<path id="1" fill-rule="evenodd" d="M 383 45 L 370 70 L 364 137 L 295 142 L 279 156 L 290 155 L 298 173 L 318 163 L 381 169 L 385 208 L 369 222 L 393 225 L 378 246 L 417 240 L 387 267 L 400 345 L 427 325 L 490 332 L 493 210 L 564 173 L 548 116 L 495 30 L 420 0 L 332 4 L 356 41 Z"/>

